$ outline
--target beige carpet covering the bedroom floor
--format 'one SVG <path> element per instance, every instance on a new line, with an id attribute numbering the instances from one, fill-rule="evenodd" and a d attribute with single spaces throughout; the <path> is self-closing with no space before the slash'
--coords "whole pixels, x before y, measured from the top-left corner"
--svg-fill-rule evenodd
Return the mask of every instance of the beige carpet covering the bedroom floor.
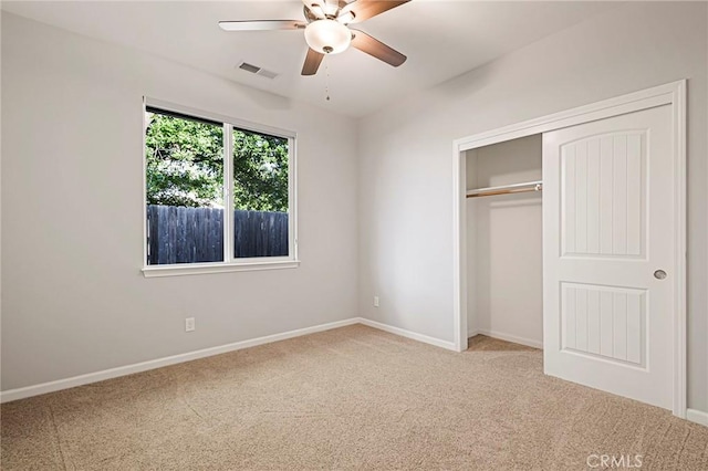
<path id="1" fill-rule="evenodd" d="M 708 470 L 708 428 L 476 341 L 357 325 L 9 402 L 2 469 Z"/>

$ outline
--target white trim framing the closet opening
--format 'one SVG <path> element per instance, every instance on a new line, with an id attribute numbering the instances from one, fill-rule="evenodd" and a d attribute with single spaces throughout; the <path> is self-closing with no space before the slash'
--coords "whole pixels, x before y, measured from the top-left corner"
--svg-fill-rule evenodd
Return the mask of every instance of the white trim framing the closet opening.
<path id="1" fill-rule="evenodd" d="M 686 81 L 668 83 L 577 108 L 498 129 L 475 134 L 452 143 L 452 306 L 454 338 L 458 352 L 467 349 L 467 211 L 465 151 L 504 140 L 590 123 L 655 106 L 670 105 L 673 114 L 674 167 L 676 169 L 675 227 L 676 305 L 674 317 L 675 416 L 686 418 Z"/>

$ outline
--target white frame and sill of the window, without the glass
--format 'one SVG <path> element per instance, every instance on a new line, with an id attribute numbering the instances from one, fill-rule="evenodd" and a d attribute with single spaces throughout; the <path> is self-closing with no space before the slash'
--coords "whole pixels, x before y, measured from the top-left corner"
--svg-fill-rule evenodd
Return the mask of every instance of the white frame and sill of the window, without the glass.
<path id="1" fill-rule="evenodd" d="M 147 264 L 147 159 L 145 158 L 145 121 L 147 107 L 179 113 L 186 116 L 223 123 L 223 261 L 206 263 L 174 263 L 164 265 Z M 233 129 L 250 130 L 288 139 L 288 257 L 233 258 Z M 243 119 L 208 113 L 175 103 L 143 97 L 143 275 L 178 276 L 204 273 L 237 272 L 251 270 L 294 269 L 300 265 L 298 259 L 298 178 L 296 178 L 296 138 L 294 132 L 264 126 Z"/>

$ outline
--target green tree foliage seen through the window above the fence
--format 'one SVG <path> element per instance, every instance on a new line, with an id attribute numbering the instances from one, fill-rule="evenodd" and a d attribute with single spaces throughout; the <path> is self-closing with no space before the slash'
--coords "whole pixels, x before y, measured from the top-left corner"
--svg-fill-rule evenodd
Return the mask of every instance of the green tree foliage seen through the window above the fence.
<path id="1" fill-rule="evenodd" d="M 223 128 L 148 113 L 147 203 L 223 206 Z M 233 130 L 233 208 L 288 211 L 288 139 Z"/>

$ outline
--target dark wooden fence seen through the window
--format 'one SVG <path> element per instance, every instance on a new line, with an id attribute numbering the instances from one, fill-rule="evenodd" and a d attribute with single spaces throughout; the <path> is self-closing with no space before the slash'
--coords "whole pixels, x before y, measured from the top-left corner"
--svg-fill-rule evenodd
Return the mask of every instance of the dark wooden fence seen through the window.
<path id="1" fill-rule="evenodd" d="M 233 211 L 236 258 L 288 255 L 288 213 Z M 223 210 L 147 206 L 147 264 L 223 260 Z"/>

